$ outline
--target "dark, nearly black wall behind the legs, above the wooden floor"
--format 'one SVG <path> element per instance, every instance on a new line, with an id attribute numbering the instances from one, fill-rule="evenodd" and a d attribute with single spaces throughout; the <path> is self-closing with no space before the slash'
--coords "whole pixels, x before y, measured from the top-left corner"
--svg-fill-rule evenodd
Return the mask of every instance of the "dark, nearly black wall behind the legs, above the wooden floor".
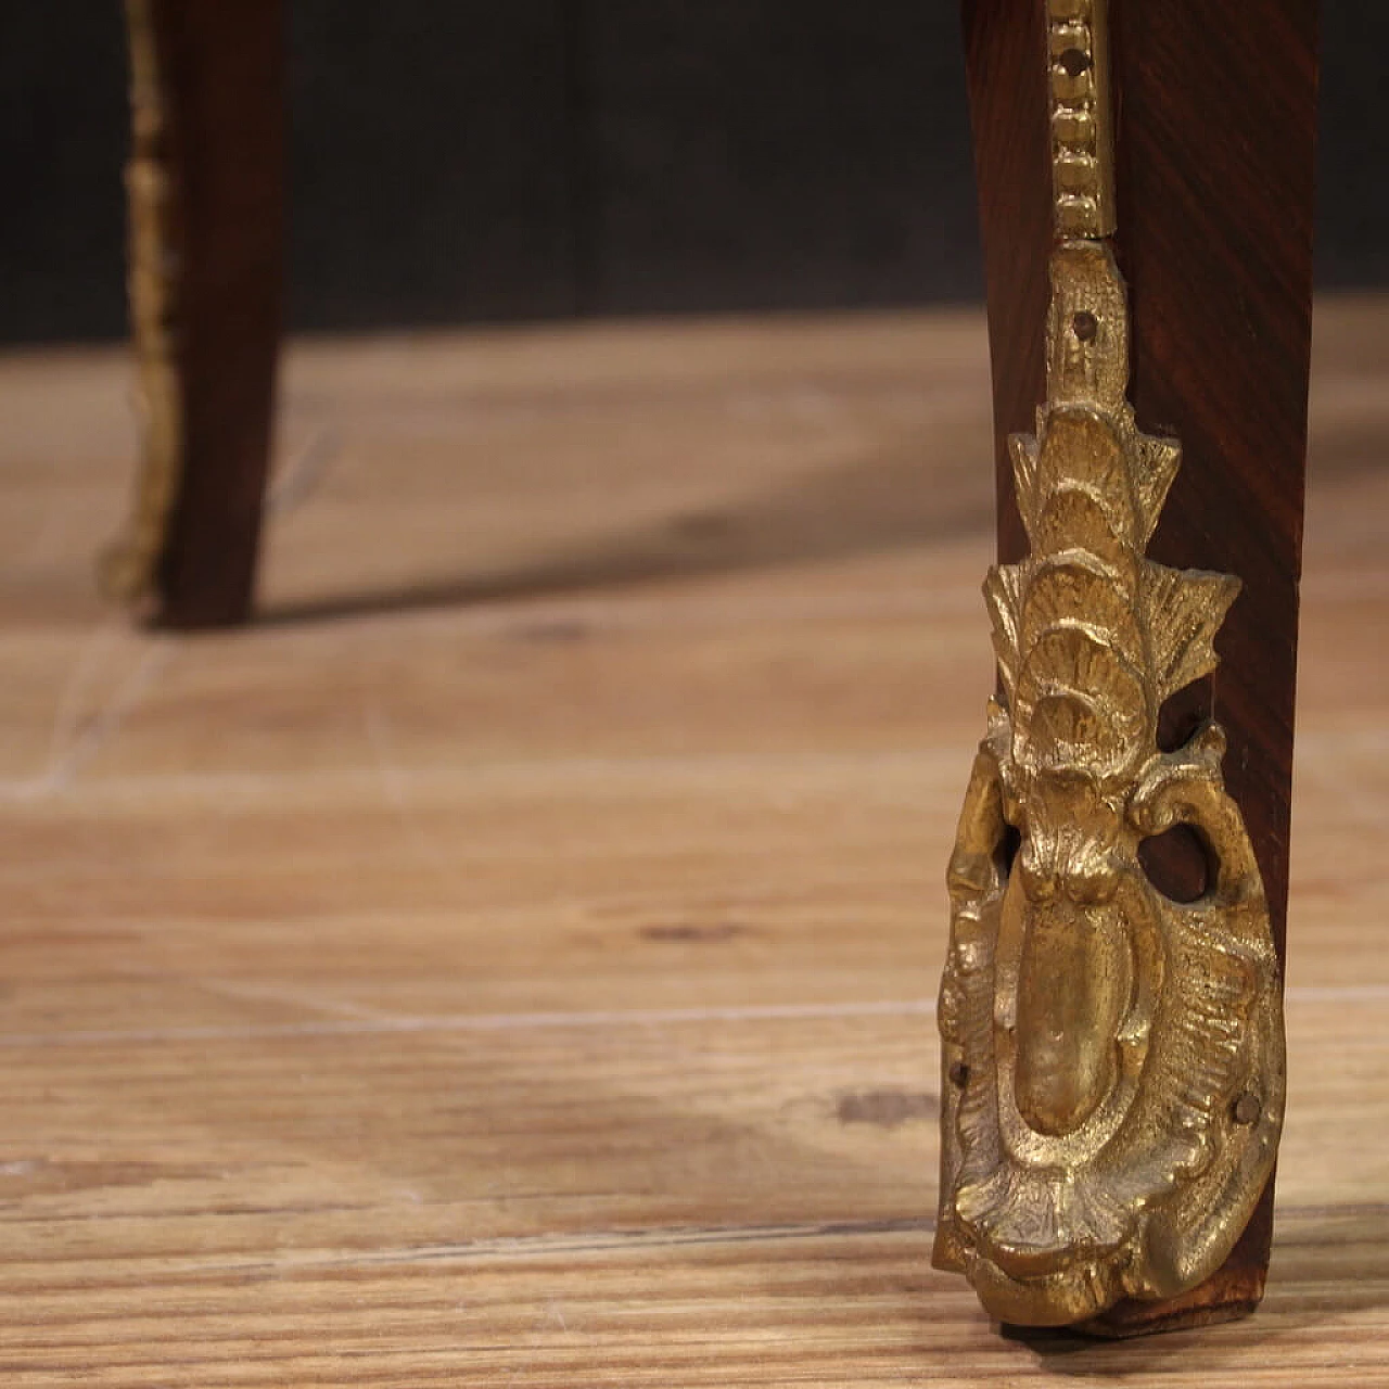
<path id="1" fill-rule="evenodd" d="M 954 0 L 289 13 L 293 328 L 981 293 Z M 1318 278 L 1381 285 L 1389 6 L 1324 17 Z M 117 336 L 119 0 L 15 0 L 3 31 L 0 340 Z"/>

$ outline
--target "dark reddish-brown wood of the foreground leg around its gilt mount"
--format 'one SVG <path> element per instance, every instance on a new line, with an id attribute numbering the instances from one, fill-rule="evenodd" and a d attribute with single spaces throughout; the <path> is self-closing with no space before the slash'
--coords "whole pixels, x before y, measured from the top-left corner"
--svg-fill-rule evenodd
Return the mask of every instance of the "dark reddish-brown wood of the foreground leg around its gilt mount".
<path id="1" fill-rule="evenodd" d="M 1157 743 L 1186 745 L 1208 720 L 1224 728 L 1224 786 L 1257 860 L 1264 932 L 1279 972 L 1307 435 L 1317 10 L 1317 0 L 1108 0 L 1115 217 L 1113 226 L 1079 233 L 1108 247 L 1126 283 L 1126 396 L 1138 429 L 1181 443 L 1181 467 L 1146 558 L 1243 583 L 1220 626 L 1218 669 L 1165 700 Z M 1085 22 L 1090 11 L 1092 0 L 964 0 L 993 354 L 999 556 L 1007 564 L 1029 553 L 1007 440 L 1038 431 L 1049 389 L 1049 261 L 1057 244 L 1049 101 L 1058 65 L 1074 61 L 1085 81 L 1083 61 L 1057 26 L 1076 17 Z M 1074 126 L 1067 135 L 1083 139 Z M 1078 343 L 1090 342 L 1095 315 L 1068 322 Z M 1078 354 L 1068 361 L 1083 357 L 1074 343 L 1061 350 Z M 1006 610 L 1006 600 L 999 597 L 996 608 Z M 976 774 L 967 801 L 967 820 L 982 826 L 976 838 L 996 822 L 1001 829 L 1008 815 L 993 786 Z M 963 824 L 963 839 L 968 828 Z M 1170 897 L 1190 897 L 1214 868 L 1206 847 L 1190 833 L 1149 840 L 1149 879 Z M 971 874 L 1007 881 L 1001 839 L 999 850 L 992 870 L 983 858 L 975 863 L 978 856 L 957 854 L 958 893 L 975 890 Z M 968 1067 L 956 1060 L 945 1083 L 947 1093 L 954 1085 L 964 1095 Z M 1045 1088 L 1038 1093 L 1046 1097 Z M 1211 1095 L 1218 1093 L 1211 1081 Z M 1238 1132 L 1232 1125 L 1258 1122 L 1257 1096 L 1233 1099 L 1214 1120 L 1225 1135 Z M 963 1103 L 953 1101 L 956 1114 Z M 958 1170 L 945 1175 L 956 1185 L 961 1179 Z M 975 1206 L 982 1203 L 975 1197 Z M 963 1225 L 953 1207 L 943 1215 L 954 1235 L 938 1245 L 938 1257 L 968 1267 L 979 1224 L 970 1210 Z M 1168 1300 L 1121 1300 L 1086 1329 L 1136 1335 L 1251 1311 L 1263 1295 L 1271 1233 L 1270 1175 L 1218 1271 Z M 1038 1238 L 1045 1243 L 1045 1235 Z M 1020 1260 L 1015 1267 L 1033 1265 Z"/>

